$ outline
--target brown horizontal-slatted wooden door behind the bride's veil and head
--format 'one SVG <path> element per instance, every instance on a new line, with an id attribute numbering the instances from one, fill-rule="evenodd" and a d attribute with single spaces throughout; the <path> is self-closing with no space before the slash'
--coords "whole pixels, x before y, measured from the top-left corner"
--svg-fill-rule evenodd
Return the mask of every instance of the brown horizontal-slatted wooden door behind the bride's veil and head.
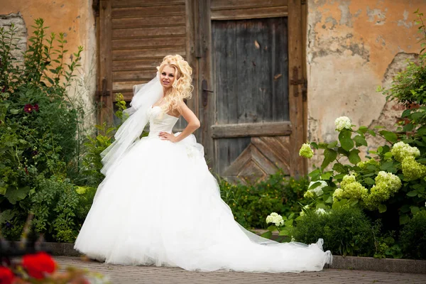
<path id="1" fill-rule="evenodd" d="M 99 122 L 111 123 L 115 94 L 131 101 L 165 55 L 186 57 L 186 21 L 185 0 L 100 0 Z"/>

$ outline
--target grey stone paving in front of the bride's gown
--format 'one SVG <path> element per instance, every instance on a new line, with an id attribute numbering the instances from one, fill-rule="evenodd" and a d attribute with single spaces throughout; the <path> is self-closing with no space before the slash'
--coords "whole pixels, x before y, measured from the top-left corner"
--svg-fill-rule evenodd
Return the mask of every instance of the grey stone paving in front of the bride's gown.
<path id="1" fill-rule="evenodd" d="M 192 272 L 181 268 L 155 266 L 117 266 L 94 261 L 83 261 L 82 258 L 56 256 L 60 266 L 89 268 L 109 276 L 111 283 L 133 284 L 256 284 L 256 283 L 322 283 L 322 284 L 362 284 L 362 283 L 414 283 L 425 284 L 426 274 L 388 273 L 376 271 L 350 271 L 324 269 L 320 272 L 306 273 L 242 273 L 242 272 Z"/>

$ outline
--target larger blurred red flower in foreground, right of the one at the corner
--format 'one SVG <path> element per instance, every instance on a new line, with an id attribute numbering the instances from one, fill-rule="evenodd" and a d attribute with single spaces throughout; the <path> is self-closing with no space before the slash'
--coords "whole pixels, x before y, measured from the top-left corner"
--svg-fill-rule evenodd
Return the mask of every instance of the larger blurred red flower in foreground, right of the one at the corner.
<path id="1" fill-rule="evenodd" d="M 56 269 L 55 261 L 45 252 L 23 256 L 22 266 L 28 275 L 37 279 L 45 278 L 46 273 L 53 273 Z"/>

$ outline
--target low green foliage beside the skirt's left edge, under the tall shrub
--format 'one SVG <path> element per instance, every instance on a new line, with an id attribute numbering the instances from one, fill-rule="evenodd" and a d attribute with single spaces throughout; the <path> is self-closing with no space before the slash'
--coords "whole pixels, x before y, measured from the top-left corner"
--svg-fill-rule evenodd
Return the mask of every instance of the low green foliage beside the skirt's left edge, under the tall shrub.
<path id="1" fill-rule="evenodd" d="M 47 241 L 73 242 L 92 206 L 94 187 L 76 187 L 68 178 L 38 176 L 36 186 L 25 200 L 0 214 L 1 232 L 6 239 L 18 240 L 28 214 L 33 214 L 35 234 Z"/>

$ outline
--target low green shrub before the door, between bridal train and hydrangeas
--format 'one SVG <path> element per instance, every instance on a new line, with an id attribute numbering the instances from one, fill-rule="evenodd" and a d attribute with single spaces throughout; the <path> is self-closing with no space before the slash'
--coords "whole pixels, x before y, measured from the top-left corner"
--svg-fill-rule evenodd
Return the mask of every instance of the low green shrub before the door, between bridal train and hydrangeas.
<path id="1" fill-rule="evenodd" d="M 298 201 L 306 190 L 305 178 L 289 178 L 283 170 L 253 184 L 232 184 L 219 179 L 222 199 L 231 207 L 236 222 L 246 228 L 266 228 L 271 212 L 300 212 Z"/>

